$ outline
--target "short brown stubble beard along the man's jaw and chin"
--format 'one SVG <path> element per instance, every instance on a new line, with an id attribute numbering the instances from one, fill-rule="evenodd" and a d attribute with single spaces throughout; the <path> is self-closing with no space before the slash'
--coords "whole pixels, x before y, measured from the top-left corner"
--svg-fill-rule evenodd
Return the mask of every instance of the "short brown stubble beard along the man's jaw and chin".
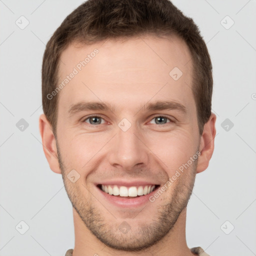
<path id="1" fill-rule="evenodd" d="M 94 199 L 93 195 L 91 195 L 85 187 L 82 187 L 82 189 L 84 189 L 81 190 L 81 187 L 78 187 L 75 183 L 71 183 L 66 177 L 68 169 L 62 161 L 58 145 L 57 155 L 67 195 L 73 208 L 76 210 L 88 230 L 108 247 L 131 252 L 145 250 L 156 244 L 165 235 L 171 234 L 178 216 L 184 207 L 186 207 L 192 193 L 198 161 L 198 158 L 195 159 L 191 166 L 181 173 L 181 178 L 178 177 L 176 179 L 177 184 L 173 189 L 170 200 L 157 206 L 157 212 L 150 224 L 131 225 L 131 228 L 127 233 L 122 233 L 118 227 L 120 222 L 125 219 L 118 220 L 109 213 L 113 219 L 110 223 L 107 222 L 104 218 L 106 213 L 93 206 L 92 200 L 97 201 Z M 186 176 L 186 178 L 184 176 Z M 87 197 L 84 197 L 86 193 Z M 163 195 L 160 195 L 159 197 L 161 196 Z M 139 214 L 143 214 L 142 212 Z M 118 223 L 114 223 L 114 221 Z M 126 222 L 129 222 L 129 220 L 127 219 Z"/>

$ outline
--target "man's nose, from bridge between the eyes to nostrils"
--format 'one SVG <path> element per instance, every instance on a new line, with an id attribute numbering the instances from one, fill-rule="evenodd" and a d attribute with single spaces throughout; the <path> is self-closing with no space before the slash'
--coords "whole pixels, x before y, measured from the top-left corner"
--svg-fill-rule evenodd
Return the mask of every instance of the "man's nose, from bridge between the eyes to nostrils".
<path id="1" fill-rule="evenodd" d="M 148 164 L 148 148 L 144 144 L 142 135 L 136 130 L 135 125 L 123 131 L 117 127 L 117 134 L 112 141 L 109 163 L 125 171 L 132 171 L 134 168 Z"/>

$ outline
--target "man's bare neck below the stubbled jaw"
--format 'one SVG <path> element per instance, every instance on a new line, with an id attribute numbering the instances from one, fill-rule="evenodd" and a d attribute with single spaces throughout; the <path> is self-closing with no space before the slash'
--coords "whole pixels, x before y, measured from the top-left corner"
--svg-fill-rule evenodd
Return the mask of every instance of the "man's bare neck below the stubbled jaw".
<path id="1" fill-rule="evenodd" d="M 120 251 L 106 246 L 85 226 L 78 213 L 73 209 L 75 244 L 72 256 L 191 256 L 194 255 L 186 244 L 185 222 L 186 207 L 181 211 L 172 229 L 156 244 L 143 251 Z"/>

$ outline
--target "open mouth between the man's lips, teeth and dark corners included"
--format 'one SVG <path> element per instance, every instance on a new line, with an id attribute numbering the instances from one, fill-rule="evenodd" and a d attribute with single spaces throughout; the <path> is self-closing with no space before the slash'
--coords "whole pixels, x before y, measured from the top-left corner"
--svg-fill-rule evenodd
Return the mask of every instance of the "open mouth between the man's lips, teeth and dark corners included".
<path id="1" fill-rule="evenodd" d="M 147 184 L 138 186 L 123 186 L 117 184 L 97 184 L 97 187 L 111 196 L 132 199 L 135 197 L 143 197 L 149 193 L 155 191 L 160 185 L 159 184 Z"/>

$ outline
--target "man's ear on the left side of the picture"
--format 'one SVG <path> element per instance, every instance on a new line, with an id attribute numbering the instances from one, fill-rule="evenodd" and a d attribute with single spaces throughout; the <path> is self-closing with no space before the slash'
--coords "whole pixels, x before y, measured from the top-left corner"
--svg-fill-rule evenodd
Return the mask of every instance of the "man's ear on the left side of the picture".
<path id="1" fill-rule="evenodd" d="M 57 158 L 57 147 L 52 127 L 44 114 L 39 117 L 39 130 L 42 139 L 43 151 L 49 163 L 50 169 L 56 173 L 61 173 Z"/>

